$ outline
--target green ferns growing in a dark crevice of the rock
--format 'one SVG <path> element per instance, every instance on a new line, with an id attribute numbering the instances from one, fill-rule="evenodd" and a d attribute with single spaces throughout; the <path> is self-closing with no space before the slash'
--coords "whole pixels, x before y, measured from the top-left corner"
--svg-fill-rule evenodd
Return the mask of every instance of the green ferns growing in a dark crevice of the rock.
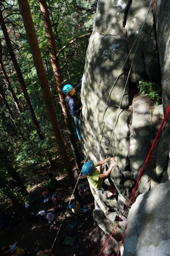
<path id="1" fill-rule="evenodd" d="M 151 81 L 139 81 L 140 93 L 153 99 L 155 103 L 159 103 L 161 99 L 161 84 L 156 84 Z"/>

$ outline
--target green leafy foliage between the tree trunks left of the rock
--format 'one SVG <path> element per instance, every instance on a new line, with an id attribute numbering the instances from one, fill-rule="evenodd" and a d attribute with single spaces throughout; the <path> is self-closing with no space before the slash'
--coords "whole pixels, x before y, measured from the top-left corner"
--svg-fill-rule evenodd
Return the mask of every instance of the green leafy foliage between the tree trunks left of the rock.
<path id="1" fill-rule="evenodd" d="M 18 112 L 14 100 L 11 97 L 11 93 L 7 90 L 6 83 L 4 83 L 2 76 L 0 76 L 0 84 L 2 84 L 3 93 L 14 115 L 13 120 L 11 119 L 6 106 L 0 102 L 0 148 L 6 152 L 9 159 L 9 163 L 6 163 L 3 160 L 1 161 L 0 177 L 5 183 L 8 183 L 8 180 L 11 179 L 10 166 L 12 165 L 17 170 L 19 176 L 23 178 L 28 188 L 32 184 L 37 183 L 37 170 L 40 169 L 42 165 L 48 163 L 44 148 L 48 149 L 51 158 L 55 158 L 58 154 L 58 146 L 54 140 L 53 129 L 49 122 L 48 112 L 37 79 L 37 71 L 34 67 L 34 61 L 26 38 L 26 32 L 17 1 L 10 0 L 1 2 L 1 10 L 3 11 L 3 16 L 6 17 L 5 21 L 11 44 L 45 140 L 40 141 L 40 138 L 36 133 L 31 114 L 26 105 L 16 71 L 14 70 L 6 47 L 6 42 L 3 39 L 3 64 L 10 80 L 11 87 L 20 102 L 23 112 L 21 114 Z M 47 0 L 47 4 L 57 51 L 72 39 L 92 31 L 97 0 Z M 57 113 L 57 119 L 62 134 L 64 135 L 65 142 L 67 142 L 68 137 L 51 67 L 48 41 L 40 12 L 39 1 L 29 0 L 29 6 Z M 1 30 L 0 37 L 4 38 Z M 67 62 L 62 70 L 62 78 L 65 80 L 65 83 L 76 85 L 82 77 L 87 47 L 88 38 L 83 38 L 75 41 L 74 44 L 69 45 L 65 48 L 64 52 L 60 53 L 60 67 Z M 70 145 L 67 145 L 66 147 L 70 150 Z M 62 173 L 65 172 L 64 169 Z M 20 189 L 15 188 L 11 192 L 4 187 L 0 189 L 1 202 L 8 204 L 8 198 L 12 195 L 20 198 L 20 201 L 23 201 Z"/>

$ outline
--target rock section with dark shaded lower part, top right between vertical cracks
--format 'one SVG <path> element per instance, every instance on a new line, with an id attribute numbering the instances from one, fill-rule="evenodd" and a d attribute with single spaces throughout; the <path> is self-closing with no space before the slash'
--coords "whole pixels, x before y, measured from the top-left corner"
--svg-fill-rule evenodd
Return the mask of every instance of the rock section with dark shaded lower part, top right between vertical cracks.
<path id="1" fill-rule="evenodd" d="M 132 48 L 136 37 L 139 35 L 149 5 L 150 0 L 131 1 L 125 25 L 125 28 L 127 29 L 127 38 L 129 40 L 129 49 Z M 153 12 L 152 8 L 150 8 L 149 15 L 142 30 L 136 56 L 133 61 L 131 75 L 133 82 L 140 80 L 158 82 L 161 79 L 155 36 Z M 130 60 L 133 59 L 134 52 L 135 49 L 130 53 Z"/>

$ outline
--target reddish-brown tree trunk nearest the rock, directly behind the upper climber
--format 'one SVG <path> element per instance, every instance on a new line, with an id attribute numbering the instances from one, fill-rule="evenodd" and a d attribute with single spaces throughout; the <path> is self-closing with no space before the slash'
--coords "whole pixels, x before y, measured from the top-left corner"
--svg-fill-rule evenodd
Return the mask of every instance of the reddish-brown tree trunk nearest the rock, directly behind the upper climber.
<path id="1" fill-rule="evenodd" d="M 71 118 L 70 118 L 70 115 L 67 110 L 67 105 L 65 102 L 64 95 L 62 93 L 63 79 L 62 79 L 62 74 L 61 74 L 61 71 L 59 68 L 59 61 L 56 57 L 57 50 L 56 50 L 56 45 L 55 45 L 55 40 L 54 40 L 54 36 L 53 36 L 53 31 L 52 31 L 52 26 L 51 26 L 51 21 L 50 21 L 50 17 L 49 17 L 46 0 L 40 0 L 40 9 L 41 9 L 41 13 L 42 13 L 43 21 L 44 21 L 46 36 L 48 39 L 48 45 L 49 45 L 50 55 L 51 55 L 51 65 L 53 67 L 55 81 L 57 84 L 57 89 L 59 91 L 59 99 L 60 99 L 60 102 L 62 105 L 62 111 L 64 113 L 65 124 L 67 127 L 68 136 L 69 136 L 71 148 L 73 151 L 76 168 L 80 172 L 82 166 L 81 166 L 81 161 L 80 161 L 80 157 L 79 157 L 79 152 L 77 149 L 76 140 L 74 137 L 73 126 L 71 124 Z"/>

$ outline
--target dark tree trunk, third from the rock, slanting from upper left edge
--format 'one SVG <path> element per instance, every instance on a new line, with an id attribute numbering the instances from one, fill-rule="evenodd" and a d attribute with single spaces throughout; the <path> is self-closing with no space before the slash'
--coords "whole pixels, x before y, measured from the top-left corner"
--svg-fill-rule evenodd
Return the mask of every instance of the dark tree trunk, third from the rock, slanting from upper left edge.
<path id="1" fill-rule="evenodd" d="M 20 82 L 21 89 L 22 89 L 23 94 L 24 94 L 24 98 L 26 100 L 26 104 L 27 104 L 28 109 L 31 113 L 31 117 L 32 117 L 32 120 L 34 122 L 34 126 L 36 128 L 37 134 L 39 135 L 40 140 L 44 140 L 44 137 L 43 137 L 42 132 L 40 130 L 40 126 L 38 124 L 37 118 L 35 116 L 34 110 L 33 110 L 32 105 L 31 105 L 31 101 L 30 101 L 30 98 L 29 98 L 29 95 L 28 95 L 28 92 L 27 92 L 27 89 L 26 89 L 26 84 L 25 84 L 25 81 L 23 79 L 23 75 L 22 75 L 20 67 L 17 63 L 17 59 L 15 57 L 14 50 L 12 49 L 11 41 L 10 41 L 10 38 L 9 38 L 9 35 L 8 35 L 8 31 L 7 31 L 6 24 L 5 24 L 5 21 L 4 21 L 1 10 L 0 10 L 0 25 L 1 25 L 1 29 L 3 31 L 3 35 L 5 37 L 5 40 L 6 40 L 6 45 L 8 47 L 8 51 L 9 51 L 9 54 L 11 56 L 11 60 L 13 62 L 14 68 L 15 68 L 16 73 L 17 73 L 18 80 Z"/>

